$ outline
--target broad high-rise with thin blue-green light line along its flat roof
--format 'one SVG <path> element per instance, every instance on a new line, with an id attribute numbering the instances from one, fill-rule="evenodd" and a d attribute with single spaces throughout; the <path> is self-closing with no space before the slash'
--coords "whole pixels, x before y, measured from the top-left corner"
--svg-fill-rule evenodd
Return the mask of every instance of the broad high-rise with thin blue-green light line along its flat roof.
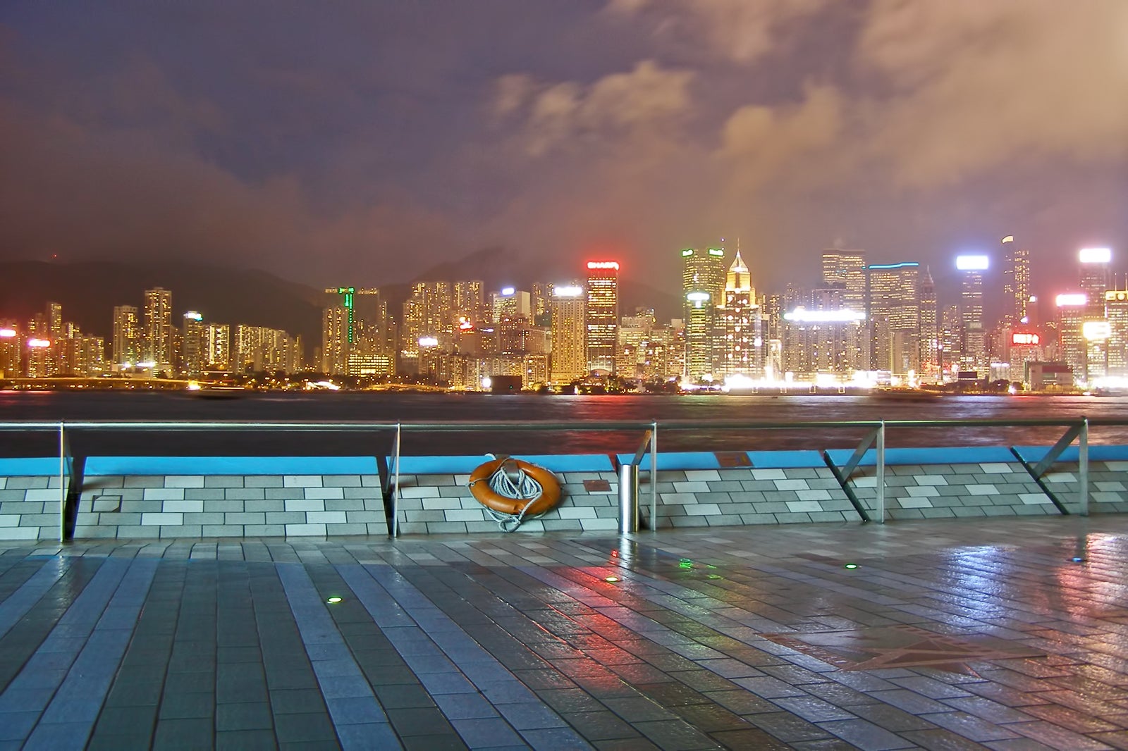
<path id="1" fill-rule="evenodd" d="M 920 372 L 920 264 L 871 264 L 870 368 L 902 379 Z"/>

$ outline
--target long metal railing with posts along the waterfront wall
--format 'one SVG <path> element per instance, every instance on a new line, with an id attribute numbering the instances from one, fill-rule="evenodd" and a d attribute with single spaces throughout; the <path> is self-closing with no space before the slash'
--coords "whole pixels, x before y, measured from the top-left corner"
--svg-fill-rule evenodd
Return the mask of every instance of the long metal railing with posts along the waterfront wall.
<path id="1" fill-rule="evenodd" d="M 71 452 L 70 436 L 76 432 L 361 432 L 379 433 L 391 432 L 391 457 L 388 466 L 388 487 L 385 488 L 390 500 L 390 525 L 389 531 L 393 537 L 398 534 L 399 525 L 399 477 L 400 459 L 403 450 L 403 436 L 406 432 L 412 433 L 481 433 L 481 432 L 634 432 L 640 431 L 643 435 L 641 443 L 634 454 L 622 467 L 634 467 L 635 477 L 637 469 L 646 453 L 650 453 L 649 484 L 651 495 L 650 529 L 656 530 L 658 518 L 658 434 L 659 431 L 690 431 L 708 430 L 713 433 L 722 431 L 810 431 L 810 430 L 854 430 L 865 431 L 865 438 L 857 444 L 851 459 L 837 467 L 830 460 L 825 450 L 819 450 L 827 466 L 834 472 L 841 488 L 858 510 L 861 518 L 865 521 L 885 521 L 885 432 L 889 428 L 954 428 L 954 427 L 1064 427 L 1065 434 L 1058 439 L 1057 443 L 1039 461 L 1032 463 L 1012 448 L 1015 458 L 1023 465 L 1031 478 L 1039 484 L 1043 492 L 1049 495 L 1061 513 L 1068 513 L 1064 504 L 1046 487 L 1043 475 L 1058 460 L 1061 453 L 1074 443 L 1078 447 L 1078 509 L 1082 515 L 1089 514 L 1089 431 L 1091 427 L 1126 426 L 1128 419 L 1103 419 L 1103 418 L 1064 418 L 1064 419 L 898 419 L 898 421 L 805 421 L 805 422 L 782 422 L 782 421 L 618 421 L 618 422 L 588 422 L 588 423 L 559 423 L 559 422 L 505 422 L 505 421 L 447 421 L 442 423 L 428 422 L 368 422 L 368 421 L 344 421 L 344 422 L 318 422 L 318 421 L 211 421 L 211 422 L 2 422 L 0 431 L 20 432 L 55 432 L 59 438 L 59 485 L 60 485 L 60 540 L 65 538 L 65 513 L 67 501 L 70 488 L 70 479 L 74 475 L 74 457 Z M 871 519 L 864 506 L 858 502 L 849 480 L 866 453 L 874 451 L 875 486 L 876 486 L 876 519 Z M 620 475 L 622 477 L 622 475 Z M 632 491 L 631 487 L 634 489 Z M 620 487 L 620 512 L 629 515 L 633 506 L 637 514 L 637 484 L 632 484 L 627 488 L 633 493 L 633 501 L 623 497 Z M 624 503 L 627 505 L 625 506 Z M 623 511 L 626 509 L 626 511 Z M 620 514 L 620 515 L 622 515 Z M 628 531 L 637 530 L 637 516 L 635 521 L 631 519 L 619 520 L 620 530 L 632 528 Z"/>

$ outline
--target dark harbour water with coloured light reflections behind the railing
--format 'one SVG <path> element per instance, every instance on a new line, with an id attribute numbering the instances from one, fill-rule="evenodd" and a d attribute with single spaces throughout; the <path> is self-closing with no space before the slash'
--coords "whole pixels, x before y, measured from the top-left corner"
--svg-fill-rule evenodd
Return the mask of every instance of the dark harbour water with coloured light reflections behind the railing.
<path id="1" fill-rule="evenodd" d="M 231 400 L 194 399 L 168 392 L 0 392 L 0 419 L 34 421 L 549 421 L 556 423 L 638 421 L 873 421 L 873 419 L 1066 419 L 1082 416 L 1128 419 L 1120 397 L 943 397 L 925 401 L 885 401 L 861 396 L 537 396 L 478 394 L 253 394 Z M 888 447 L 1052 444 L 1058 427 L 889 428 Z M 253 438 L 253 440 L 248 440 Z M 606 453 L 634 452 L 640 431 L 593 433 L 405 433 L 406 453 Z M 661 431 L 661 451 L 770 451 L 849 448 L 862 432 L 849 430 Z M 26 453 L 21 445 L 53 436 L 0 433 L 0 453 Z M 149 448 L 190 454 L 371 454 L 390 444 L 387 436 L 358 434 L 254 436 L 170 433 L 77 436 L 77 452 L 124 453 Z M 1094 427 L 1093 443 L 1128 444 L 1128 427 Z M 151 451 L 150 451 L 151 452 Z M 49 452 L 50 453 L 50 452 Z"/>

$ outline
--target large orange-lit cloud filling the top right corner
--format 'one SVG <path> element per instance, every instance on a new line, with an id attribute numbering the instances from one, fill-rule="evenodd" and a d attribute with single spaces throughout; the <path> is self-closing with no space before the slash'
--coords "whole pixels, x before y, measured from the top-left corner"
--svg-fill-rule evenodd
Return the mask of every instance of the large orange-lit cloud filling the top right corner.
<path id="1" fill-rule="evenodd" d="M 885 87 L 871 152 L 906 185 L 1128 153 L 1128 3 L 879 0 L 856 48 Z"/>

